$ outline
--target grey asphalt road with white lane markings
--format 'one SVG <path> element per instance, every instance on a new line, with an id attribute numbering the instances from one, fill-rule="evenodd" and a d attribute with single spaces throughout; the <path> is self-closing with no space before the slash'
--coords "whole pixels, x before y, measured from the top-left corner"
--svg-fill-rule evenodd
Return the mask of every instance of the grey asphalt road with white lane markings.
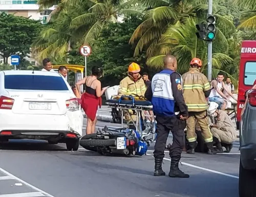
<path id="1" fill-rule="evenodd" d="M 238 145 L 231 154 L 183 153 L 180 168 L 189 179 L 154 177 L 152 154 L 153 146 L 147 156 L 126 158 L 101 156 L 82 148 L 72 153 L 64 144 L 13 140 L 0 151 L 0 197 L 238 196 Z M 166 153 L 166 173 L 169 163 Z"/>

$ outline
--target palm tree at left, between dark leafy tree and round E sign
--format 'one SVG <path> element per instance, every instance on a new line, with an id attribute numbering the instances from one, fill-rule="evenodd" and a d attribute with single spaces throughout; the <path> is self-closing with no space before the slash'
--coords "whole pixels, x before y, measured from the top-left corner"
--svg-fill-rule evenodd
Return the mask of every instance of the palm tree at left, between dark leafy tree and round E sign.
<path id="1" fill-rule="evenodd" d="M 66 2 L 62 2 L 61 6 L 62 9 L 52 15 L 50 25 L 44 28 L 33 42 L 32 53 L 39 62 L 46 57 L 63 61 L 67 52 L 71 50 L 71 45 L 79 41 L 83 29 L 86 28 L 70 28 L 72 19 L 88 10 L 86 5 L 67 6 Z"/>

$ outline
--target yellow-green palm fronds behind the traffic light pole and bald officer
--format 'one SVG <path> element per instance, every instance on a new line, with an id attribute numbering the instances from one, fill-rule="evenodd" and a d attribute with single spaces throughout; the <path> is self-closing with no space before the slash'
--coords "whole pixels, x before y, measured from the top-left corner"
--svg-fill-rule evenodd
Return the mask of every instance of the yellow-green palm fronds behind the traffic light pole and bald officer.
<path id="1" fill-rule="evenodd" d="M 160 42 L 156 45 L 155 54 L 147 60 L 148 66 L 161 68 L 163 66 L 163 54 L 172 53 L 177 57 L 179 72 L 184 73 L 189 68 L 189 62 L 194 57 L 199 57 L 203 61 L 202 71 L 206 72 L 207 65 L 207 43 L 198 41 L 196 36 L 196 23 L 193 18 L 187 18 L 184 23 L 177 22 L 170 26 L 161 36 Z M 220 41 L 222 48 L 220 48 Z M 233 59 L 224 54 L 228 48 L 228 42 L 222 34 L 218 34 L 213 44 L 212 66 L 218 71 L 227 64 L 231 64 Z M 218 46 L 218 48 L 216 47 Z M 221 53 L 223 52 L 223 53 Z M 226 51 L 227 53 L 227 51 Z M 215 72 L 214 72 L 215 73 Z"/>

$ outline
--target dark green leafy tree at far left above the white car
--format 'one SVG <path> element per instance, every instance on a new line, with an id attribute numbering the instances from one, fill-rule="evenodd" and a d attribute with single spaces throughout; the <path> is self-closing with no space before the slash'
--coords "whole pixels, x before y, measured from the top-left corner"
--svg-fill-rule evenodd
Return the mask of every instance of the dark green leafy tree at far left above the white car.
<path id="1" fill-rule="evenodd" d="M 33 39 L 38 35 L 41 28 L 39 21 L 21 16 L 0 14 L 0 53 L 7 63 L 8 57 L 17 52 L 22 58 L 30 53 Z"/>

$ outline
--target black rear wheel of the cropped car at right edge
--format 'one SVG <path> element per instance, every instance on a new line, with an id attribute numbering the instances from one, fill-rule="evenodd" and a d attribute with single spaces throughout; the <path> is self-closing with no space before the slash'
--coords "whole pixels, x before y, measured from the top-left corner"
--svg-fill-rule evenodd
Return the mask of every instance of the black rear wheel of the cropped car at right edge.
<path id="1" fill-rule="evenodd" d="M 245 169 L 240 159 L 239 197 L 256 197 L 256 170 Z"/>

